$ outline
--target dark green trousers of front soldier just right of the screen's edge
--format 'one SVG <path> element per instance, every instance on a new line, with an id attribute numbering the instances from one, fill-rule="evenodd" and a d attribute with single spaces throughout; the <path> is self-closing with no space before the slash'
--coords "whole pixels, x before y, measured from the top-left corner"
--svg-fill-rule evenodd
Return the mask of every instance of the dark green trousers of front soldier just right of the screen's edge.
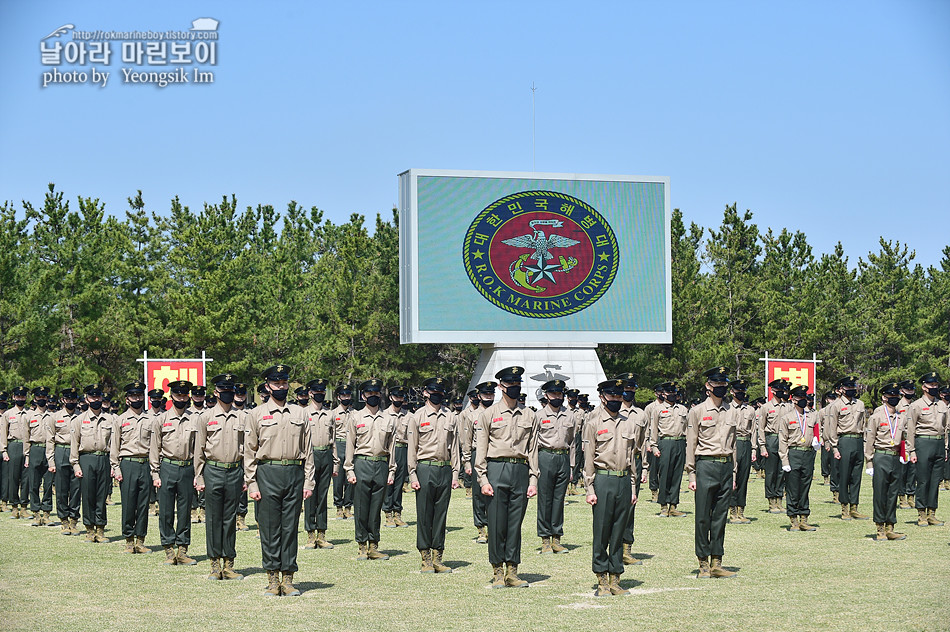
<path id="1" fill-rule="evenodd" d="M 732 460 L 696 457 L 696 557 L 723 554 L 731 498 Z"/>

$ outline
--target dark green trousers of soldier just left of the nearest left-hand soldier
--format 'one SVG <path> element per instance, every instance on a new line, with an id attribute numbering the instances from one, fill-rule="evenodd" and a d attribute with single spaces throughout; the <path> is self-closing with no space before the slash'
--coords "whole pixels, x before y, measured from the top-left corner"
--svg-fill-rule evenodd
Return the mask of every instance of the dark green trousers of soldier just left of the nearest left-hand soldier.
<path id="1" fill-rule="evenodd" d="M 244 485 L 244 470 L 206 465 L 205 478 L 205 546 L 208 557 L 234 559 L 237 533 L 237 506 Z M 303 491 L 300 492 L 303 496 Z M 324 502 L 326 507 L 326 502 Z"/>

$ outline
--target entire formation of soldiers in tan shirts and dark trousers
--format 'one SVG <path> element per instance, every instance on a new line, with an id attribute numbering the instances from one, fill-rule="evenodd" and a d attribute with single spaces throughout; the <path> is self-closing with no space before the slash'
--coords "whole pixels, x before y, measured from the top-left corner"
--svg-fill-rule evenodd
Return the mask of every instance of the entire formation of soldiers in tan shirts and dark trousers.
<path id="1" fill-rule="evenodd" d="M 596 406 L 551 380 L 535 410 L 524 404 L 517 366 L 478 384 L 467 406 L 434 377 L 416 389 L 384 388 L 378 379 L 341 384 L 331 408 L 324 378 L 290 397 L 285 365 L 264 372 L 256 406 L 248 386 L 229 374 L 210 380 L 211 393 L 187 381 L 169 383 L 167 394 L 132 382 L 121 414 L 118 398 L 99 384 L 58 395 L 16 387 L 0 392 L 0 510 L 32 516 L 36 526 L 59 524 L 64 535 L 82 535 L 81 520 L 86 542 L 108 542 L 115 480 L 124 552 L 151 553 L 145 538 L 157 500 L 164 563 L 197 564 L 188 555 L 197 519 L 206 522 L 208 579 L 236 580 L 243 579 L 234 570 L 236 532 L 248 529 L 250 499 L 267 596 L 300 594 L 293 580 L 301 513 L 304 548 L 334 548 L 326 539 L 331 483 L 337 518 L 353 519 L 359 560 L 388 559 L 379 549 L 382 516 L 386 527 L 408 526 L 402 498 L 411 490 L 422 573 L 452 572 L 446 516 L 452 490 L 466 485 L 493 588 L 528 585 L 518 569 L 529 499 L 537 498 L 540 553 L 566 553 L 565 497 L 583 488 L 598 596 L 629 594 L 620 576 L 642 564 L 633 554 L 641 485 L 649 483 L 659 516 L 682 517 L 684 471 L 695 494 L 701 579 L 736 576 L 722 565 L 725 528 L 750 523 L 744 510 L 756 466 L 769 511 L 787 514 L 790 531 L 816 530 L 809 523 L 816 460 L 842 520 L 868 519 L 858 507 L 861 470 L 871 476 L 875 540 L 906 538 L 894 530 L 898 508 L 916 509 L 921 527 L 943 525 L 936 510 L 938 490 L 950 489 L 950 387 L 937 373 L 918 380 L 920 397 L 914 381 L 880 386 L 870 413 L 854 376 L 838 380 L 816 406 L 806 387 L 784 380 L 768 384 L 767 400 L 750 402 L 748 382 L 727 373 L 706 371 L 705 397 L 690 405 L 675 382 L 657 384 L 656 400 L 643 409 L 635 405 L 637 376 L 625 373 L 598 385 Z"/>

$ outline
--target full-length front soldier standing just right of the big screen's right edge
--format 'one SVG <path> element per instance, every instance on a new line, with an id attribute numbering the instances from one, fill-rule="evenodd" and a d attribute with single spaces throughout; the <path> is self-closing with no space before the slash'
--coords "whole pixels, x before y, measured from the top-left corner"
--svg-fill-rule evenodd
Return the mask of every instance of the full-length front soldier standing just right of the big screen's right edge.
<path id="1" fill-rule="evenodd" d="M 689 411 L 686 437 L 686 472 L 689 488 L 696 492 L 698 578 L 735 577 L 723 568 L 722 556 L 729 500 L 736 488 L 736 415 L 723 401 L 729 387 L 726 367 L 703 375 L 707 397 Z"/>

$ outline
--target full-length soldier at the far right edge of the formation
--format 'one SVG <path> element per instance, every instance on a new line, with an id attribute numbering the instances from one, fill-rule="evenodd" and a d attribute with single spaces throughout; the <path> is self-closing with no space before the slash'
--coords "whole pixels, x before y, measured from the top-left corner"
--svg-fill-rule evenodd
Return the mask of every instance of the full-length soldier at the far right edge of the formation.
<path id="1" fill-rule="evenodd" d="M 931 371 L 920 378 L 924 393 L 907 409 L 907 455 L 917 467 L 917 526 L 942 527 L 937 496 L 943 478 L 947 439 L 947 407 L 940 400 L 940 376 Z"/>

